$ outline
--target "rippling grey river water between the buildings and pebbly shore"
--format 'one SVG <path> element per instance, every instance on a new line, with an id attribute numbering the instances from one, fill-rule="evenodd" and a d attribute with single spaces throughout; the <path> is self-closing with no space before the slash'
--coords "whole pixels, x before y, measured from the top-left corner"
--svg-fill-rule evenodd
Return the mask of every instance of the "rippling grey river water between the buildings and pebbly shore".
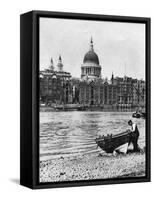
<path id="1" fill-rule="evenodd" d="M 95 138 L 129 129 L 137 123 L 139 146 L 145 146 L 145 120 L 131 118 L 130 112 L 40 112 L 40 160 L 102 152 Z"/>

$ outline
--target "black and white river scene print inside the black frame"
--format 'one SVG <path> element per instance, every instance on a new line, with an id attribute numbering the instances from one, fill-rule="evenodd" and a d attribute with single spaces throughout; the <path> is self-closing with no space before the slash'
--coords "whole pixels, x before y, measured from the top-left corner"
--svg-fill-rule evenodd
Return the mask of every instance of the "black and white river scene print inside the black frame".
<path id="1" fill-rule="evenodd" d="M 39 18 L 39 182 L 146 176 L 144 23 Z"/>

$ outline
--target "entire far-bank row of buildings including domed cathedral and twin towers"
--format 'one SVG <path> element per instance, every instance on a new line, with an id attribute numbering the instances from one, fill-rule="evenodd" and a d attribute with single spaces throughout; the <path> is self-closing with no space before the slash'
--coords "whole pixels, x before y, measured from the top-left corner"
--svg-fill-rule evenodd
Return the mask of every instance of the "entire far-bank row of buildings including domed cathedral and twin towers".
<path id="1" fill-rule="evenodd" d="M 80 104 L 101 109 L 145 107 L 145 81 L 131 77 L 102 78 L 102 65 L 94 51 L 93 40 L 83 58 L 81 78 L 72 78 L 63 69 L 59 56 L 57 69 L 51 59 L 48 69 L 40 71 L 40 100 L 50 104 Z"/>

